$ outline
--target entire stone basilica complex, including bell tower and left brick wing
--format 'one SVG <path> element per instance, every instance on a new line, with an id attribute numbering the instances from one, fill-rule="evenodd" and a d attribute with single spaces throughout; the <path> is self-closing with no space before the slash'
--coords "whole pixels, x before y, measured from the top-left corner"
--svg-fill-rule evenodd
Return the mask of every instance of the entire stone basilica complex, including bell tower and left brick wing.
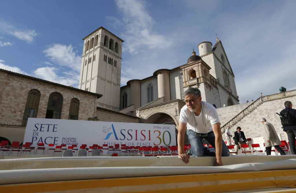
<path id="1" fill-rule="evenodd" d="M 183 93 L 197 87 L 217 108 L 239 103 L 221 41 L 198 44 L 187 62 L 155 69 L 120 87 L 123 40 L 100 27 L 83 38 L 78 88 L 0 69 L 0 140 L 22 141 L 29 117 L 172 124 L 178 129 Z"/>

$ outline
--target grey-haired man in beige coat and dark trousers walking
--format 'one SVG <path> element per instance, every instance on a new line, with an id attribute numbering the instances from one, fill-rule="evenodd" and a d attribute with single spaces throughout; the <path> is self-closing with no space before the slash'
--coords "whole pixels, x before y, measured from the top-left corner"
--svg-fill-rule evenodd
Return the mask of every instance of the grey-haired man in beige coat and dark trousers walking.
<path id="1" fill-rule="evenodd" d="M 261 122 L 264 125 L 264 141 L 265 141 L 265 150 L 266 155 L 271 154 L 271 147 L 274 146 L 276 150 L 279 151 L 281 155 L 286 155 L 286 153 L 281 149 L 279 145 L 281 145 L 281 141 L 279 140 L 279 136 L 274 129 L 274 126 L 271 123 L 266 122 L 265 118 L 261 119 Z"/>

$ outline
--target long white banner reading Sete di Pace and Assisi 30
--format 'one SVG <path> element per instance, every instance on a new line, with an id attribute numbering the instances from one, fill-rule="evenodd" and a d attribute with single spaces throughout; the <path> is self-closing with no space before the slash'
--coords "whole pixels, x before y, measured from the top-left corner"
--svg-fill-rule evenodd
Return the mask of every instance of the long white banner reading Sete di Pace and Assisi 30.
<path id="1" fill-rule="evenodd" d="M 175 125 L 28 118 L 25 142 L 46 145 L 176 145 Z"/>

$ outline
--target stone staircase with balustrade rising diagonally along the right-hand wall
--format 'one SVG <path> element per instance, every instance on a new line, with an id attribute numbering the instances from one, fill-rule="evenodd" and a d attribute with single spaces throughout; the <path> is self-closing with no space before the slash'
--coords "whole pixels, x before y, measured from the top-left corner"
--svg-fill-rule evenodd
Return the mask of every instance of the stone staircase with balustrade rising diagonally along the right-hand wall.
<path id="1" fill-rule="evenodd" d="M 241 112 L 239 112 L 239 114 L 237 114 L 229 122 L 227 122 L 225 125 L 223 125 L 221 127 L 222 133 L 225 133 L 225 130 L 226 130 L 226 127 L 227 126 L 230 126 L 230 127 L 234 126 L 240 120 L 244 119 L 244 117 L 246 117 L 252 111 L 254 111 L 255 109 L 257 109 L 263 102 L 264 102 L 264 99 L 263 99 L 263 96 L 262 96 L 262 93 L 261 93 L 261 96 L 257 100 L 255 100 L 252 103 L 250 103 L 249 106 L 247 106 L 244 110 L 242 110 Z"/>

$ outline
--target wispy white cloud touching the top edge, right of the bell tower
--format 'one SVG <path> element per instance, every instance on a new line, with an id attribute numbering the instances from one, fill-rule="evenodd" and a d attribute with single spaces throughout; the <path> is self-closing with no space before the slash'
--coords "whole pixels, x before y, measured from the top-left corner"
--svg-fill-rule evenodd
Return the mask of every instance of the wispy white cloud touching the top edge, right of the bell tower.
<path id="1" fill-rule="evenodd" d="M 138 53 L 146 47 L 149 49 L 165 49 L 172 43 L 165 36 L 152 32 L 153 18 L 146 10 L 143 1 L 134 0 L 117 0 L 115 1 L 118 9 L 123 13 L 123 26 L 125 32 L 122 34 L 126 41 L 126 48 L 131 54 Z M 115 24 L 120 23 L 114 20 Z"/>

